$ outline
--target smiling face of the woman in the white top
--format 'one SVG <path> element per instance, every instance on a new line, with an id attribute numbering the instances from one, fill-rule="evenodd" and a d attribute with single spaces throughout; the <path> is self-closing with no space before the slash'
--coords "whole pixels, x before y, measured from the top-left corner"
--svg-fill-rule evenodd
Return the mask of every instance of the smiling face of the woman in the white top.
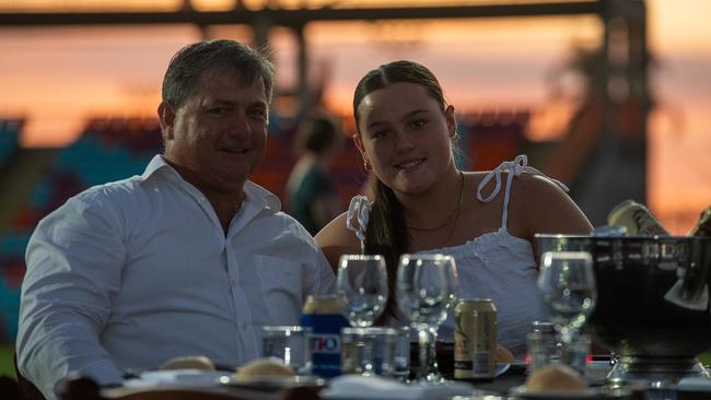
<path id="1" fill-rule="evenodd" d="M 394 83 L 358 105 L 353 137 L 377 178 L 395 191 L 418 193 L 454 168 L 454 107 L 442 110 L 424 86 Z"/>

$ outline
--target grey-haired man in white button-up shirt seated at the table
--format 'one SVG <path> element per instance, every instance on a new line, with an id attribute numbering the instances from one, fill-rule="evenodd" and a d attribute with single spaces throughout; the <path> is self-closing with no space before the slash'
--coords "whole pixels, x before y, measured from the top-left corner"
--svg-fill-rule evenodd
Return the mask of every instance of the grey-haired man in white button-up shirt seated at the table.
<path id="1" fill-rule="evenodd" d="M 298 325 L 334 274 L 279 200 L 248 180 L 265 155 L 273 67 L 233 40 L 178 51 L 159 106 L 165 154 L 37 225 L 22 285 L 19 367 L 48 398 L 69 372 L 259 356 L 260 327 Z"/>

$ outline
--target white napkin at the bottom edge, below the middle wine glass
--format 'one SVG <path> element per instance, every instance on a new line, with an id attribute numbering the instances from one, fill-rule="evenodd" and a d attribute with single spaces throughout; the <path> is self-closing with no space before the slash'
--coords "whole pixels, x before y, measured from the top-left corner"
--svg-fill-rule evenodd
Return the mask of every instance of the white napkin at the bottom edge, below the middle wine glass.
<path id="1" fill-rule="evenodd" d="M 320 392 L 327 400 L 403 400 L 450 399 L 453 396 L 471 396 L 474 387 L 465 383 L 447 381 L 442 385 L 406 385 L 380 376 L 342 375 L 329 381 Z"/>

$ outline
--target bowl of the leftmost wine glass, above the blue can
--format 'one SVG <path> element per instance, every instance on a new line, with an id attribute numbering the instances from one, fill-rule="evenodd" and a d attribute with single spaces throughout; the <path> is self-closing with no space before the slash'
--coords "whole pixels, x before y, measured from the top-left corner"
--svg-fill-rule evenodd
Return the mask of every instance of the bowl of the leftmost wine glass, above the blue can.
<path id="1" fill-rule="evenodd" d="M 346 306 L 343 316 L 356 328 L 368 328 L 387 302 L 387 272 L 383 256 L 343 255 L 336 283 Z"/>

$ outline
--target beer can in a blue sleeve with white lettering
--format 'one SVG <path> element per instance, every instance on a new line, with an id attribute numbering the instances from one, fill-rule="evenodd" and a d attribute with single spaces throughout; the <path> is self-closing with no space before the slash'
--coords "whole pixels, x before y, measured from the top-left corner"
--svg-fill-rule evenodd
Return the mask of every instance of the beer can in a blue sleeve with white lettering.
<path id="1" fill-rule="evenodd" d="M 343 299 L 340 295 L 306 297 L 301 325 L 311 328 L 308 345 L 314 375 L 324 378 L 340 375 L 340 330 L 349 326 L 342 309 Z"/>

